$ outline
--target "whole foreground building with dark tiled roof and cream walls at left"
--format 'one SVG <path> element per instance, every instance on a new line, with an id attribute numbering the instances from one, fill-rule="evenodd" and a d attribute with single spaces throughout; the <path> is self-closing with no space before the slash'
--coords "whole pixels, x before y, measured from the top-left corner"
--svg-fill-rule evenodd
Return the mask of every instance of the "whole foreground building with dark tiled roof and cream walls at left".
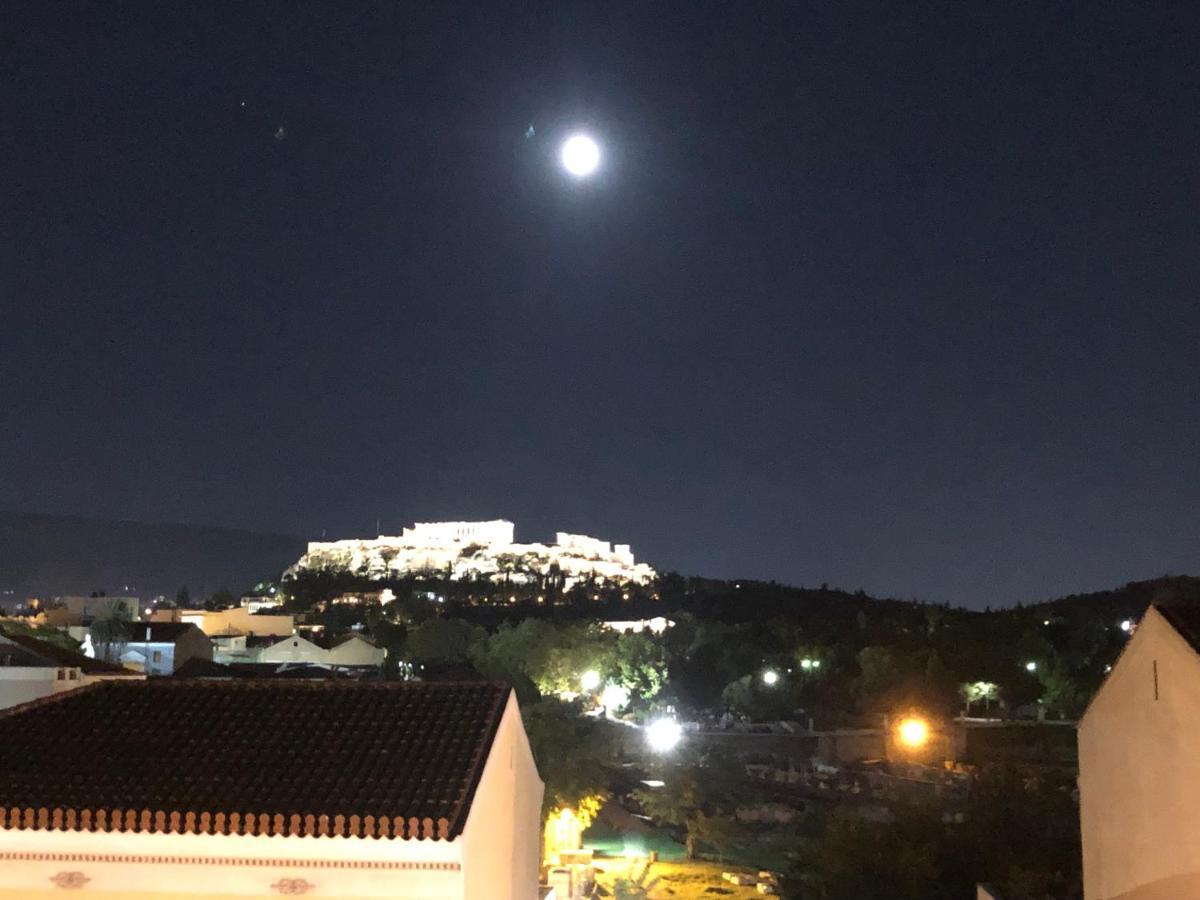
<path id="1" fill-rule="evenodd" d="M 504 685 L 104 685 L 0 713 L 0 898 L 535 900 L 541 794 Z"/>

